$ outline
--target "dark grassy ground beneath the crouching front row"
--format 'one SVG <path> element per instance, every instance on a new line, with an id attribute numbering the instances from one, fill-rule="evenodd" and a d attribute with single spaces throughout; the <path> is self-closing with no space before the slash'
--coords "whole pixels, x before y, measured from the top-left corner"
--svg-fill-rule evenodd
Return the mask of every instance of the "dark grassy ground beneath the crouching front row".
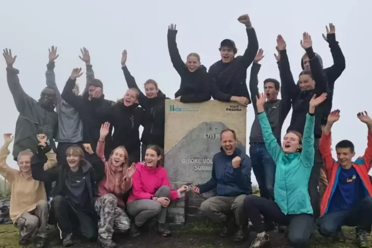
<path id="1" fill-rule="evenodd" d="M 355 233 L 353 228 L 344 228 L 345 236 L 348 238 L 346 243 L 334 243 L 315 233 L 312 238 L 311 248 L 351 248 L 356 247 Z M 251 233 L 249 240 L 243 244 L 231 243 L 229 239 L 222 239 L 215 235 L 215 227 L 209 225 L 195 225 L 177 231 L 173 236 L 163 238 L 154 233 L 147 233 L 139 238 L 130 238 L 126 235 L 114 237 L 120 248 L 246 248 L 254 238 Z M 282 233 L 270 232 L 271 248 L 289 248 L 289 245 Z M 372 242 L 372 237 L 369 237 Z M 18 230 L 12 225 L 0 225 L 0 248 L 18 248 Z M 33 246 L 28 246 L 32 248 Z M 48 248 L 59 248 L 58 234 L 50 234 L 50 244 Z M 80 244 L 72 248 L 99 248 L 96 243 Z"/>

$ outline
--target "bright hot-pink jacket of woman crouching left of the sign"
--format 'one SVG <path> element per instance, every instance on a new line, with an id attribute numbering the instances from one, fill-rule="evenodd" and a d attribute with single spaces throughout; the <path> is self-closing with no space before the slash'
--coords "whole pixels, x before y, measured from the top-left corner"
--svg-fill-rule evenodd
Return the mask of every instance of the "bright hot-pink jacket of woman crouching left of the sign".
<path id="1" fill-rule="evenodd" d="M 128 203 L 134 200 L 151 199 L 161 186 L 168 186 L 170 183 L 168 174 L 164 167 L 148 167 L 143 163 L 137 163 L 136 172 L 132 177 L 132 192 L 130 192 Z M 170 200 L 178 199 L 177 190 L 170 191 Z"/>

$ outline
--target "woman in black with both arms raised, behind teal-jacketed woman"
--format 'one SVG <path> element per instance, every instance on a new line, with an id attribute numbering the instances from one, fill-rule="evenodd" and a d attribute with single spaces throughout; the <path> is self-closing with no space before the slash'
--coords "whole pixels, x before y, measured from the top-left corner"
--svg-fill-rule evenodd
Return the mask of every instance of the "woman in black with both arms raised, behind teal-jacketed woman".
<path id="1" fill-rule="evenodd" d="M 294 83 L 292 73 L 290 71 L 289 59 L 287 55 L 287 45 L 283 37 L 277 37 L 277 46 L 280 54 L 279 70 L 282 81 L 283 90 L 287 91 L 292 101 L 292 117 L 287 131 L 297 131 L 303 134 L 306 120 L 306 113 L 309 107 L 309 101 L 314 94 L 321 95 L 328 92 L 327 78 L 322 71 L 322 66 L 317 54 L 313 50 L 313 42 L 308 33 L 303 33 L 301 46 L 305 49 L 307 56 L 310 58 L 311 70 L 303 70 L 298 77 L 298 85 Z M 319 153 L 319 139 L 322 136 L 321 120 L 323 116 L 325 102 L 320 104 L 315 111 L 315 126 L 314 126 L 314 148 L 315 158 L 314 166 L 312 167 L 309 180 L 309 194 L 311 205 L 314 209 L 314 217 L 319 216 L 319 193 L 318 184 L 320 176 L 320 168 L 323 166 L 322 157 Z"/>

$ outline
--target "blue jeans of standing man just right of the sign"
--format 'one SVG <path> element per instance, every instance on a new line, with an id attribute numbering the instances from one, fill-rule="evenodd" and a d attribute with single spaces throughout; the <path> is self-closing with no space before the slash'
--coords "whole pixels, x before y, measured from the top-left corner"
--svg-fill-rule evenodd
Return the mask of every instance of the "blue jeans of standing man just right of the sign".
<path id="1" fill-rule="evenodd" d="M 252 143 L 249 146 L 249 156 L 253 173 L 256 176 L 260 196 L 274 200 L 274 183 L 276 165 L 266 149 L 265 144 Z"/>

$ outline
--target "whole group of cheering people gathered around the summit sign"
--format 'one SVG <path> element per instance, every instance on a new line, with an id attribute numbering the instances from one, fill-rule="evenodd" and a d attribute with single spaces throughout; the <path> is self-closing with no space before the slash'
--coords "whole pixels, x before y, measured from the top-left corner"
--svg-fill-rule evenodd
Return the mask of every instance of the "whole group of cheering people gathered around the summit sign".
<path id="1" fill-rule="evenodd" d="M 201 212 L 222 224 L 222 237 L 235 232 L 236 242 L 245 241 L 249 232 L 255 231 L 251 248 L 268 245 L 267 232 L 276 225 L 287 230 L 294 248 L 304 248 L 315 223 L 319 232 L 333 241 L 345 239 L 342 226 L 357 226 L 358 244 L 367 247 L 366 233 L 372 226 L 368 175 L 372 119 L 367 112 L 358 113 L 368 127 L 364 156 L 352 162 L 354 145 L 342 140 L 335 146 L 334 160 L 331 126 L 338 121 L 340 111 L 331 112 L 333 87 L 345 69 L 335 27 L 330 24 L 327 35 L 323 35 L 334 61 L 326 69 L 313 50 L 311 36 L 303 33 L 305 53 L 297 83 L 290 70 L 286 42 L 279 35 L 275 58 L 282 86 L 268 78 L 263 81 L 264 93 L 259 93 L 263 50 L 249 16 L 242 15 L 238 21 L 245 25 L 248 35 L 244 54 L 236 56 L 234 41 L 223 40 L 221 60 L 208 71 L 197 53 L 190 53 L 184 62 L 177 48 L 176 26 L 168 28 L 170 59 L 181 78 L 175 100 L 204 102 L 213 97 L 243 106 L 252 103 L 254 108 L 250 157 L 237 147 L 234 130 L 222 130 L 221 151 L 213 157 L 211 179 L 191 187 L 196 194 L 216 189 L 217 195 L 202 203 Z M 12 154 L 19 170 L 6 164 L 13 141 L 12 134 L 6 133 L 0 149 L 0 174 L 12 184 L 10 217 L 20 229 L 19 244 L 27 245 L 36 236 L 36 246 L 46 247 L 49 223 L 60 230 L 63 246 L 72 245 L 74 236 L 98 238 L 102 247 L 112 248 L 116 246 L 112 240 L 115 231 L 130 229 L 131 236 L 139 236 L 144 223 L 155 216 L 159 233 L 169 236 L 167 207 L 184 197 L 190 187 L 173 190 L 163 167 L 167 98 L 152 79 L 145 82 L 144 93 L 140 90 L 127 68 L 124 50 L 121 65 L 128 90 L 117 102 L 105 99 L 103 83 L 94 77 L 89 51 L 83 48 L 81 52 L 86 64 L 83 93 L 79 94 L 77 83 L 83 75 L 81 68 L 73 69 L 60 93 L 54 74 L 58 53 L 51 47 L 47 86 L 35 100 L 22 89 L 19 71 L 13 67 L 16 56 L 10 49 L 3 50 L 7 83 L 19 112 Z M 249 94 L 246 80 L 250 65 Z M 278 99 L 280 90 L 282 99 Z M 290 125 L 282 140 L 282 125 L 290 109 Z M 260 196 L 252 195 L 251 169 Z M 248 220 L 252 224 L 249 228 Z"/>

